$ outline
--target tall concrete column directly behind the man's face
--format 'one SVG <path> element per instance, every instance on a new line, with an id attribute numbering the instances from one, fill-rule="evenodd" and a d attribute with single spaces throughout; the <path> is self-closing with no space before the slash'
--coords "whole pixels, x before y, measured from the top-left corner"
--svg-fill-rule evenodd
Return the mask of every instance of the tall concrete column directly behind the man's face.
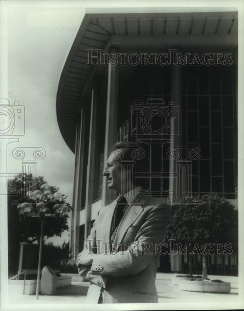
<path id="1" fill-rule="evenodd" d="M 116 53 L 116 49 L 111 52 Z M 106 110 L 106 129 L 104 145 L 104 169 L 107 159 L 110 156 L 112 146 L 117 142 L 117 118 L 118 118 L 118 65 L 108 66 L 108 89 L 107 89 L 107 110 Z M 102 183 L 102 206 L 110 204 L 116 197 L 115 191 L 107 188 L 106 177 Z"/>

